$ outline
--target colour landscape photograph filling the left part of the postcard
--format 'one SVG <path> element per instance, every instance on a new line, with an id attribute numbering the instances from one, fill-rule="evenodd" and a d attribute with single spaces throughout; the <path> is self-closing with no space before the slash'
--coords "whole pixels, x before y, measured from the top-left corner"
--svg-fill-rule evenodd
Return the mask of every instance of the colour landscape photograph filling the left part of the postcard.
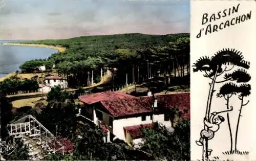
<path id="1" fill-rule="evenodd" d="M 189 2 L 0 0 L 0 160 L 190 160 Z"/>

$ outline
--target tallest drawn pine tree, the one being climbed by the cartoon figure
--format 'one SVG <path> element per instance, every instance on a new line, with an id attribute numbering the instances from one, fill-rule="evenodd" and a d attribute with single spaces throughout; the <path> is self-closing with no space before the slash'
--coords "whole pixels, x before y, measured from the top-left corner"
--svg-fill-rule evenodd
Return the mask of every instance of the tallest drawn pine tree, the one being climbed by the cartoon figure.
<path id="1" fill-rule="evenodd" d="M 236 67 L 243 67 L 246 69 L 249 68 L 249 62 L 245 61 L 242 53 L 235 49 L 222 49 L 211 58 L 207 56 L 199 58 L 196 61 L 196 63 L 194 63 L 193 65 L 193 72 L 199 72 L 199 71 L 204 72 L 203 76 L 210 79 L 209 93 L 208 93 L 206 112 L 205 112 L 205 118 L 207 121 L 209 121 L 212 96 L 216 91 L 215 84 L 223 83 L 232 79 L 232 78 L 229 78 L 229 79 L 224 79 L 222 81 L 217 80 L 217 78 L 223 76 L 225 72 L 228 72 L 232 69 L 232 67 L 230 69 L 227 69 L 227 67 L 230 65 L 236 66 Z M 204 129 L 208 131 L 208 127 L 205 126 Z M 208 140 L 207 139 L 203 140 L 202 151 L 203 151 L 202 152 L 203 160 L 208 159 Z"/>

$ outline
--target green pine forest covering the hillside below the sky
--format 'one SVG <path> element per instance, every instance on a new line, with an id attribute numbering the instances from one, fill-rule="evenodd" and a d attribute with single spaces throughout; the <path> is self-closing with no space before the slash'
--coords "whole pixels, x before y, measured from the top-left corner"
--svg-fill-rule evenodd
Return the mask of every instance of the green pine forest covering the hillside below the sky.
<path id="1" fill-rule="evenodd" d="M 164 60 L 165 67 L 168 66 L 167 63 L 171 63 L 170 61 L 167 62 L 167 60 L 170 60 L 169 57 L 173 54 L 172 52 L 162 54 L 162 52 L 159 53 L 159 51 L 155 49 L 165 48 L 169 45 L 169 42 L 175 41 L 177 41 L 175 48 L 180 52 L 180 56 L 177 58 L 177 60 L 180 61 L 179 64 L 184 65 L 184 62 L 188 64 L 189 34 L 117 34 L 81 36 L 70 39 L 39 40 L 22 43 L 61 45 L 66 47 L 67 50 L 65 52 L 52 54 L 44 63 L 47 64 L 48 61 L 50 61 L 56 64 L 56 69 L 59 74 L 65 76 L 72 75 L 69 86 L 76 87 L 89 85 L 91 83 L 92 70 L 94 71 L 95 78 L 97 78 L 100 76 L 100 68 L 103 66 L 118 68 L 115 83 L 122 84 L 124 83 L 123 80 L 125 80 L 125 73 L 129 75 L 129 83 L 133 81 L 131 80 L 132 66 L 137 65 L 137 68 L 140 67 L 142 70 L 140 70 L 139 74 L 134 73 L 136 77 L 141 75 L 135 80 L 141 81 L 140 78 L 142 76 L 146 77 L 147 62 L 154 65 L 154 70 L 157 70 L 163 64 L 163 62 L 159 62 L 160 57 L 161 60 Z M 149 49 L 152 49 L 152 51 Z M 183 56 L 184 54 L 186 56 Z M 37 60 L 34 61 L 37 62 Z M 23 65 L 22 67 L 25 68 L 28 66 L 27 71 L 30 71 L 31 68 L 33 68 L 33 70 L 37 68 L 37 66 L 34 65 L 36 63 L 33 61 L 29 64 L 33 65 Z M 50 66 L 51 65 L 46 68 L 50 68 Z M 177 67 L 178 65 L 175 66 Z M 135 70 L 135 72 L 137 72 L 137 70 Z"/>

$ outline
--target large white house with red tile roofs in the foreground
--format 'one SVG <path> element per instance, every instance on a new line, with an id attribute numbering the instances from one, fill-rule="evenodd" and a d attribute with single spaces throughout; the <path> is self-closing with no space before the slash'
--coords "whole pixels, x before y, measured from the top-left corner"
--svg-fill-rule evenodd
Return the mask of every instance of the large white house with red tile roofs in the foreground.
<path id="1" fill-rule="evenodd" d="M 94 124 L 107 128 L 111 142 L 118 138 L 129 145 L 139 146 L 143 138 L 142 127 L 152 127 L 158 122 L 171 128 L 174 118 L 169 117 L 167 109 L 178 107 L 183 112 L 181 118 L 189 119 L 189 93 L 134 97 L 107 91 L 81 96 L 79 100 L 85 105 L 81 114 Z"/>

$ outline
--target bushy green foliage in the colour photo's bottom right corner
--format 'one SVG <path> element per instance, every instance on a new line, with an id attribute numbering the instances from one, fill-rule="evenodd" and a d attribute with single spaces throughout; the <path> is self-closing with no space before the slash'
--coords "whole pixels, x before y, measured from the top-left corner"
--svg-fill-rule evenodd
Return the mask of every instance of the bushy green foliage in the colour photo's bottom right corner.
<path id="1" fill-rule="evenodd" d="M 155 123 L 153 128 L 142 129 L 145 142 L 142 150 L 153 154 L 156 159 L 190 159 L 190 121 L 179 122 L 174 132 Z"/>

